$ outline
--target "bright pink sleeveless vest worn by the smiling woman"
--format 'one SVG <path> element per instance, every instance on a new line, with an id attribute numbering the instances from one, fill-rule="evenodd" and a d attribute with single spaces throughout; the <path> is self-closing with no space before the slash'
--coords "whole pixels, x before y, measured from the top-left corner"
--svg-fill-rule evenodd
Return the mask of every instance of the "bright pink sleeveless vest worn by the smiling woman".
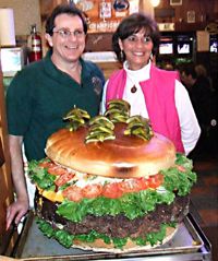
<path id="1" fill-rule="evenodd" d="M 181 139 L 179 116 L 174 103 L 174 81 L 179 80 L 175 71 L 150 67 L 150 78 L 140 83 L 146 100 L 152 128 L 170 139 L 178 152 L 184 153 Z M 122 98 L 126 82 L 125 70 L 116 71 L 109 79 L 106 100 Z"/>

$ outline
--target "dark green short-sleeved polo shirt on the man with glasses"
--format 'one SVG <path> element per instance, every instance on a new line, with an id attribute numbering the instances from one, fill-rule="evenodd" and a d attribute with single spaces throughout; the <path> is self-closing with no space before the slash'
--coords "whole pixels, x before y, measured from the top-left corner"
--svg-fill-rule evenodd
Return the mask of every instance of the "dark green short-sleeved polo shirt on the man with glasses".
<path id="1" fill-rule="evenodd" d="M 105 79 L 98 67 L 81 59 L 82 81 L 60 71 L 50 52 L 31 63 L 13 79 L 7 92 L 9 134 L 23 135 L 27 159 L 45 157 L 48 137 L 63 128 L 62 120 L 74 106 L 90 116 L 99 111 Z"/>

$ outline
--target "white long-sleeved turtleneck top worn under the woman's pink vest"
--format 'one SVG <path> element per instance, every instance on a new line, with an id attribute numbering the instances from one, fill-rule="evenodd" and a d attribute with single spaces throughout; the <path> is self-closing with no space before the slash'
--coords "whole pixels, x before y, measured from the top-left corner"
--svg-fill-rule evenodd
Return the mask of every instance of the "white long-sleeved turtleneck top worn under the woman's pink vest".
<path id="1" fill-rule="evenodd" d="M 146 100 L 144 98 L 143 91 L 140 82 L 149 79 L 150 61 L 144 68 L 132 71 L 128 69 L 128 62 L 123 63 L 123 69 L 126 71 L 126 85 L 123 93 L 123 99 L 131 105 L 131 116 L 141 115 L 144 118 L 149 118 Z M 104 114 L 106 110 L 106 91 L 108 81 L 105 84 L 102 102 L 100 112 Z M 135 85 L 136 92 L 132 93 L 131 88 Z M 189 93 L 181 82 L 175 80 L 175 92 L 174 92 L 175 107 L 180 120 L 182 143 L 184 146 L 185 154 L 187 155 L 196 145 L 201 134 L 201 128 L 194 112 L 192 103 L 190 100 Z"/>

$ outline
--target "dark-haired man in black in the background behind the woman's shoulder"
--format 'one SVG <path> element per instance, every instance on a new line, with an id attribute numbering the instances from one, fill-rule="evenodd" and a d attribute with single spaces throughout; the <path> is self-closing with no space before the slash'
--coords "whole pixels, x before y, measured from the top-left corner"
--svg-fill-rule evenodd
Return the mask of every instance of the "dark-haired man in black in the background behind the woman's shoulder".
<path id="1" fill-rule="evenodd" d="M 197 76 L 195 64 L 184 64 L 180 73 L 202 129 L 201 138 L 192 156 L 205 155 L 209 151 L 217 150 L 215 147 L 217 141 L 216 93 L 206 75 Z"/>

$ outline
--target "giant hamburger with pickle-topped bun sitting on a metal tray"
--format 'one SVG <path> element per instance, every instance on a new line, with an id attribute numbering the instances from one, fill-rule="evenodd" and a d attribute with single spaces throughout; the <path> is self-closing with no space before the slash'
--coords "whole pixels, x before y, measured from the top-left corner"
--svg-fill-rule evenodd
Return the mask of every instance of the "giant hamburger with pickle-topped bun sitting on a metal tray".
<path id="1" fill-rule="evenodd" d="M 148 249 L 172 238 L 187 214 L 192 162 L 129 114 L 120 99 L 92 119 L 74 108 L 49 137 L 48 157 L 29 163 L 39 228 L 64 247 Z"/>

